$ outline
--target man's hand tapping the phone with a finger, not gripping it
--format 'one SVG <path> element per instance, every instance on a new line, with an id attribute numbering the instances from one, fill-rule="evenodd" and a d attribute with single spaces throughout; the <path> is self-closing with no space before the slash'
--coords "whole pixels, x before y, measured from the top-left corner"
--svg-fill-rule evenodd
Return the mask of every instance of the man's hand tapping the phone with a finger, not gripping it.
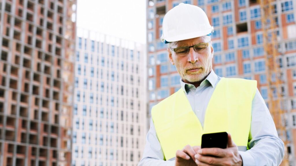
<path id="1" fill-rule="evenodd" d="M 196 166 L 194 155 L 199 149 L 200 146 L 186 145 L 182 150 L 177 150 L 175 166 Z"/>

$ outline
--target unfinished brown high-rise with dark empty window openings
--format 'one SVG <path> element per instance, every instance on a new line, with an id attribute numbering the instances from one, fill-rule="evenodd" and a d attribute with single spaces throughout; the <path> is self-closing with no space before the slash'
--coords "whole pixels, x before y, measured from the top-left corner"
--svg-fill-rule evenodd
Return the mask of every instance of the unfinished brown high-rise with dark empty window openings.
<path id="1" fill-rule="evenodd" d="M 70 165 L 75 8 L 0 2 L 0 165 Z"/>

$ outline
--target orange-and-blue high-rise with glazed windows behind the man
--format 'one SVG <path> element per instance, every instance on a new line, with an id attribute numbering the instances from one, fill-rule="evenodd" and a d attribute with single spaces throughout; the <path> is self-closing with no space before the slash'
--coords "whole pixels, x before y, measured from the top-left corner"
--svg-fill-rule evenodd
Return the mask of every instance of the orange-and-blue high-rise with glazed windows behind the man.
<path id="1" fill-rule="evenodd" d="M 151 108 L 180 88 L 180 77 L 175 66 L 168 61 L 167 46 L 161 42 L 162 22 L 166 12 L 179 3 L 202 8 L 214 27 L 213 70 L 221 77 L 255 79 L 266 102 L 266 78 L 262 9 L 258 0 L 148 0 L 147 1 L 147 68 L 148 68 L 148 120 Z M 296 1 L 275 0 L 272 15 L 276 23 L 280 80 L 280 95 L 286 110 L 284 135 L 289 142 L 287 154 L 291 165 L 296 165 Z M 198 16 L 192 16 L 198 17 Z M 268 22 L 267 22 L 268 23 Z M 270 25 L 265 25 L 266 27 Z M 270 35 L 268 31 L 268 35 Z M 271 81 L 276 74 L 271 77 Z M 275 88 L 273 88 L 274 90 Z M 277 92 L 274 90 L 273 97 Z M 284 137 L 281 139 L 285 139 Z M 287 155 L 286 154 L 286 155 Z"/>

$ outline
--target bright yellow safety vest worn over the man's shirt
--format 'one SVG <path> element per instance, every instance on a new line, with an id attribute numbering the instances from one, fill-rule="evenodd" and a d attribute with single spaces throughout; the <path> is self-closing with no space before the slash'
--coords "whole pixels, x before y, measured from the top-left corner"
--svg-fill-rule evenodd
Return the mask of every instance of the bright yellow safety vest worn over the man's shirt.
<path id="1" fill-rule="evenodd" d="M 207 133 L 226 131 L 237 146 L 248 147 L 256 89 L 255 80 L 221 78 L 207 105 L 204 128 L 182 89 L 155 105 L 151 114 L 164 160 L 188 144 L 200 146 L 202 134 Z"/>

